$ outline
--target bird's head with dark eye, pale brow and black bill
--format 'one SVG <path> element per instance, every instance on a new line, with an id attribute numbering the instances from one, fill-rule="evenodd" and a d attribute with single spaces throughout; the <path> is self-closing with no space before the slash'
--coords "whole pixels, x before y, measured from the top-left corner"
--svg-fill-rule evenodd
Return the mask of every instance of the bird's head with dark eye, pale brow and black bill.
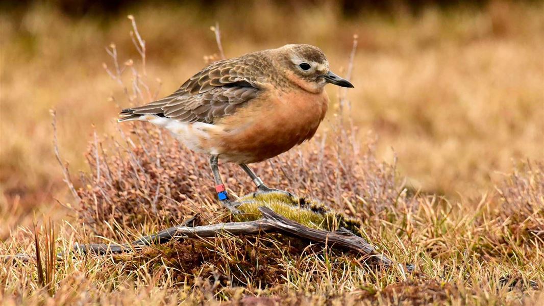
<path id="1" fill-rule="evenodd" d="M 286 45 L 277 49 L 287 77 L 301 88 L 316 92 L 327 83 L 353 88 L 348 80 L 329 70 L 325 53 L 312 45 Z"/>

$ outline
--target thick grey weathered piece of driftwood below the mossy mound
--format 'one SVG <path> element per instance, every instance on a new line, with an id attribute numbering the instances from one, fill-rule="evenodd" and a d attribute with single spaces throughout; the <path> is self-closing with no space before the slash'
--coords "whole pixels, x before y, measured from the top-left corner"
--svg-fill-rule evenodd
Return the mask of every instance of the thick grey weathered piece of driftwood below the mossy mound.
<path id="1" fill-rule="evenodd" d="M 393 265 L 393 261 L 375 251 L 375 248 L 363 238 L 354 235 L 349 230 L 328 232 L 306 227 L 298 222 L 276 214 L 268 207 L 259 207 L 263 217 L 256 221 L 228 222 L 207 226 L 177 228 L 177 234 L 188 238 L 214 237 L 222 233 L 232 235 L 256 235 L 259 233 L 282 233 L 300 239 L 324 243 L 331 248 L 349 249 L 364 254 L 369 260 L 384 267 Z M 411 270 L 409 268 L 409 270 Z"/>

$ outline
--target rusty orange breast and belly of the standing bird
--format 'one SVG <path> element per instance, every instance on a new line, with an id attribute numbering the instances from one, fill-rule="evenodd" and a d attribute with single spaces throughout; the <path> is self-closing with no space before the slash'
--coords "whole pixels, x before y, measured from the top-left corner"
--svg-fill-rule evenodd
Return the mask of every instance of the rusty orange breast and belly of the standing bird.
<path id="1" fill-rule="evenodd" d="M 256 163 L 312 138 L 327 111 L 325 91 L 269 91 L 218 122 L 208 147 L 233 163 Z"/>

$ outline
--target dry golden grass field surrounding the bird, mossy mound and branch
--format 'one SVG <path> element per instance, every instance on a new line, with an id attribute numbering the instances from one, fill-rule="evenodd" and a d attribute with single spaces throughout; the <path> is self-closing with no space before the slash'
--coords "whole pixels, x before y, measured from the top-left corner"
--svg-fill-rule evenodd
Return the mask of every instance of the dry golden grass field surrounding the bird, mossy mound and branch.
<path id="1" fill-rule="evenodd" d="M 205 57 L 217 55 L 210 26 L 218 22 L 227 57 L 311 43 L 341 76 L 357 35 L 350 110 L 338 114 L 338 92 L 330 86 L 330 112 L 316 139 L 274 159 L 276 166 L 289 165 L 280 175 L 269 163 L 257 168 L 269 185 L 362 220 L 364 237 L 421 274 L 373 270 L 354 254 L 305 249 L 277 235 L 223 236 L 137 254 L 65 255 L 47 290 L 40 289 L 33 261 L 3 262 L 0 299 L 67 305 L 542 304 L 544 5 L 492 1 L 481 8 L 431 6 L 416 15 L 400 7 L 343 17 L 335 2 L 296 3 L 225 3 L 214 10 L 149 4 L 81 18 L 47 4 L 0 12 L 0 255 L 34 254 L 32 224 L 42 227 L 49 218 L 57 251 L 75 242 L 129 241 L 195 213 L 205 223 L 226 220 L 209 188 L 205 158 L 139 124 L 122 126 L 135 142 L 127 148 L 115 122 L 121 108 L 168 95 L 205 66 Z M 146 41 L 145 71 L 128 14 Z M 133 101 L 103 68 L 114 67 L 105 49 L 111 43 L 121 66 L 133 60 L 122 77 Z M 133 95 L 133 68 L 149 95 Z M 61 158 L 70 164 L 81 203 L 70 195 L 54 157 L 51 109 Z M 337 136 L 338 117 L 353 120 L 354 138 Z M 350 133 L 348 121 L 342 129 Z M 94 131 L 105 148 L 100 154 Z M 158 143 L 166 143 L 164 151 Z M 354 145 L 359 152 L 347 149 Z M 131 178 L 129 163 L 110 154 L 133 154 L 147 165 L 148 151 L 164 158 L 171 172 L 146 166 L 141 177 Z M 330 163 L 320 154 L 330 155 Z M 308 166 L 315 160 L 322 172 Z M 97 176 L 104 163 L 119 170 L 111 179 L 117 183 Z M 338 170 L 346 164 L 351 171 Z M 240 174 L 233 167 L 224 171 Z M 155 186 L 162 177 L 178 193 L 163 197 L 160 189 L 157 201 L 142 200 L 155 188 L 138 182 Z M 251 186 L 238 179 L 227 183 L 237 195 Z M 158 208 L 151 211 L 149 202 Z M 199 252 L 198 258 L 187 255 Z"/>

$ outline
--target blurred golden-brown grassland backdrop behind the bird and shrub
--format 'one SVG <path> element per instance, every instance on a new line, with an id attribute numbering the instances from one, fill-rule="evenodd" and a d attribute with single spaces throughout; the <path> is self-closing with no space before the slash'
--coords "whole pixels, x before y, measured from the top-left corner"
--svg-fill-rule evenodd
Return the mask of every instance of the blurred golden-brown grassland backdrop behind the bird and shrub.
<path id="1" fill-rule="evenodd" d="M 115 133 L 128 102 L 102 65 L 113 65 L 112 42 L 121 63 L 140 65 L 128 14 L 159 96 L 218 53 L 216 22 L 227 57 L 310 43 L 339 74 L 358 35 L 348 98 L 360 141 L 377 138 L 379 157 L 396 155 L 400 176 L 424 192 L 481 196 L 520 160 L 544 159 L 541 1 L 3 1 L 0 213 L 12 218 L 0 238 L 33 210 L 61 208 L 50 109 L 74 176 L 86 169 L 93 130 Z M 330 121 L 337 89 L 327 91 Z"/>

